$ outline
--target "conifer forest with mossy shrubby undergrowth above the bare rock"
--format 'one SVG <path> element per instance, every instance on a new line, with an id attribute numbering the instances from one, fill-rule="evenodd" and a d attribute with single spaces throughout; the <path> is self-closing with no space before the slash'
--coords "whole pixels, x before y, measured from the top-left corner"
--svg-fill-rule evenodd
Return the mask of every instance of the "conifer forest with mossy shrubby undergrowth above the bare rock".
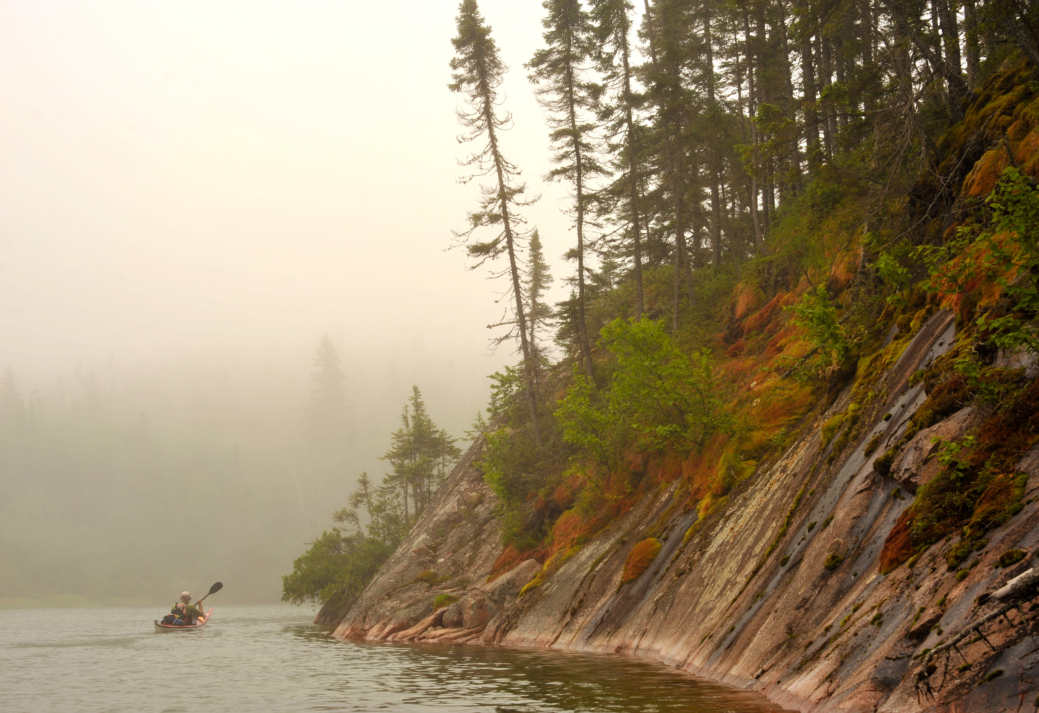
<path id="1" fill-rule="evenodd" d="M 788 427 L 896 324 L 905 335 L 962 303 L 977 286 L 943 266 L 988 235 L 1006 162 L 969 195 L 963 179 L 1030 130 L 1039 57 L 1031 9 L 1014 3 L 662 0 L 637 28 L 623 1 L 543 8 L 544 48 L 525 69 L 576 238 L 555 311 L 522 218 L 522 157 L 503 148 L 506 68 L 472 0 L 450 86 L 476 147 L 467 177 L 483 185 L 458 244 L 474 265 L 507 262 L 500 340 L 522 358 L 496 375 L 482 466 L 516 551 L 596 531 L 647 461 L 703 471 L 690 497 L 705 512 L 701 499 L 792 443 Z M 1001 190 L 1030 180 L 1007 174 Z M 992 266 L 979 270 L 996 280 Z M 751 410 L 741 391 L 766 381 L 773 406 Z"/>

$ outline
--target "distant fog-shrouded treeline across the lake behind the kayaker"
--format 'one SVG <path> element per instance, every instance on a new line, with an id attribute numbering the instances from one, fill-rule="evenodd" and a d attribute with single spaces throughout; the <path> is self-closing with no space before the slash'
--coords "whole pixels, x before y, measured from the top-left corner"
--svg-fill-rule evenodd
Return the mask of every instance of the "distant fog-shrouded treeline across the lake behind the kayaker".
<path id="1" fill-rule="evenodd" d="M 29 388 L 8 367 L 0 606 L 161 603 L 216 580 L 224 602 L 277 601 L 357 474 L 380 468 L 415 376 L 339 360 L 325 337 L 295 369 L 109 363 Z M 473 411 L 448 410 L 452 424 Z"/>

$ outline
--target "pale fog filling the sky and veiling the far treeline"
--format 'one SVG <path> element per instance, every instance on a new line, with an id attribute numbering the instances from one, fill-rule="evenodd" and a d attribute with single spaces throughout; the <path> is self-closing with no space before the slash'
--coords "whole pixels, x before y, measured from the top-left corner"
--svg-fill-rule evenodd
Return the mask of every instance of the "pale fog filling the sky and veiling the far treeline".
<path id="1" fill-rule="evenodd" d="M 523 62 L 539 2 L 484 0 L 511 72 L 504 139 L 547 184 Z M 447 89 L 457 4 L 0 3 L 0 605 L 279 596 L 397 427 L 412 384 L 461 437 L 487 400 L 498 286 L 448 252 L 476 205 Z M 557 279 L 550 298 L 561 299 Z M 328 334 L 337 469 L 301 435 Z"/>

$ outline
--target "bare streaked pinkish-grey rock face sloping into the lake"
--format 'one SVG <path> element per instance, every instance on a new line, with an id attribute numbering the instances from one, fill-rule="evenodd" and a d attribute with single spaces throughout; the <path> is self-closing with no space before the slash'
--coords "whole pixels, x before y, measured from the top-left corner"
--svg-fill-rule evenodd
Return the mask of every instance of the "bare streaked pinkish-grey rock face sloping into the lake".
<path id="1" fill-rule="evenodd" d="M 805 428 L 775 465 L 701 523 L 695 510 L 669 509 L 677 486 L 671 483 L 643 497 L 522 597 L 523 583 L 540 570 L 533 560 L 485 582 L 501 546 L 494 497 L 473 467 L 478 442 L 336 635 L 622 652 L 756 689 L 802 711 L 1031 711 L 1039 694 L 1039 644 L 1022 623 L 1034 618 L 1029 611 L 992 618 L 934 658 L 930 677 L 921 674 L 921 655 L 992 611 L 996 600 L 983 595 L 1036 563 L 1025 556 L 994 566 L 1002 553 L 1039 543 L 1039 503 L 1030 499 L 1039 492 L 1039 453 L 1023 453 L 1018 465 L 1031 476 L 1023 509 L 988 532 L 974 562 L 949 571 L 943 555 L 956 544 L 951 538 L 886 575 L 878 567 L 885 538 L 912 502 L 902 488 L 922 484 L 930 438 L 959 438 L 980 418 L 964 410 L 930 435 L 921 431 L 915 450 L 903 449 L 893 469 L 901 482 L 873 468 L 926 400 L 923 385 L 910 387 L 909 376 L 954 336 L 953 315 L 944 311 L 921 328 L 877 385 L 880 397 L 861 416 L 870 427 L 837 457 L 829 457 L 833 446 L 821 442 L 820 428 Z M 850 398 L 849 389 L 815 425 L 846 410 Z M 867 455 L 870 442 L 879 447 Z M 662 543 L 659 554 L 621 583 L 629 552 L 647 537 Z M 431 554 L 418 554 L 420 546 Z M 433 567 L 437 579 L 451 579 L 408 583 Z M 469 603 L 450 614 L 448 607 L 434 612 L 438 593 Z M 481 612 L 496 612 L 491 618 L 481 613 L 459 625 L 461 612 L 481 598 L 487 604 Z M 454 626 L 446 627 L 445 616 Z"/>

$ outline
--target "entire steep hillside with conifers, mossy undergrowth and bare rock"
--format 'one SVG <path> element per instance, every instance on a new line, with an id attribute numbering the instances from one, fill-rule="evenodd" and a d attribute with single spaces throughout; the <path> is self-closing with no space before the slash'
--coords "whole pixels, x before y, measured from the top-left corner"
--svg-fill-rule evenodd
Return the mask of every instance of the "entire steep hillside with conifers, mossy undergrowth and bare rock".
<path id="1" fill-rule="evenodd" d="M 1032 8 L 543 7 L 570 297 L 540 303 L 464 0 L 456 244 L 520 361 L 337 636 L 623 651 L 800 710 L 1031 705 Z"/>

